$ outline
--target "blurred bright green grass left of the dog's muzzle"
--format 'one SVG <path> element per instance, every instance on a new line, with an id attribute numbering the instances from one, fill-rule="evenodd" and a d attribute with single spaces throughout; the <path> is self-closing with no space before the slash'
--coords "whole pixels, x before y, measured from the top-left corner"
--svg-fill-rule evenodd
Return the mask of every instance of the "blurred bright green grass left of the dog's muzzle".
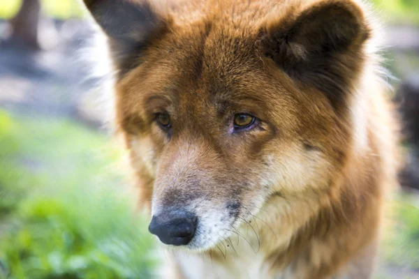
<path id="1" fill-rule="evenodd" d="M 70 121 L 0 110 L 3 275 L 152 276 L 154 241 L 122 184 L 120 157 L 105 136 Z"/>

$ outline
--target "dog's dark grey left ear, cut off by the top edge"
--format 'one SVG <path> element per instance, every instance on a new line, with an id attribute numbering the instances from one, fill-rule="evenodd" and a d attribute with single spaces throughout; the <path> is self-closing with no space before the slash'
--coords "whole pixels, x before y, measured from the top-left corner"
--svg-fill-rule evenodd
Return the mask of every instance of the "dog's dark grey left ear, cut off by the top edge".
<path id="1" fill-rule="evenodd" d="M 147 0 L 83 0 L 108 36 L 112 59 L 122 75 L 138 65 L 138 56 L 168 30 L 170 20 Z"/>

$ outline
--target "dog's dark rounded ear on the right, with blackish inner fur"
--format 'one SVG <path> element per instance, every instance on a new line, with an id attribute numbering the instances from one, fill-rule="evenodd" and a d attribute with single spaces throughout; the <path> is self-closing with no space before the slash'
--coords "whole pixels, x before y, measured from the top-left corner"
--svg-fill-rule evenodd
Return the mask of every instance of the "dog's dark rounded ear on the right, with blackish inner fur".
<path id="1" fill-rule="evenodd" d="M 318 1 L 297 9 L 260 30 L 263 54 L 337 105 L 362 66 L 362 46 L 369 38 L 362 10 L 348 0 Z"/>

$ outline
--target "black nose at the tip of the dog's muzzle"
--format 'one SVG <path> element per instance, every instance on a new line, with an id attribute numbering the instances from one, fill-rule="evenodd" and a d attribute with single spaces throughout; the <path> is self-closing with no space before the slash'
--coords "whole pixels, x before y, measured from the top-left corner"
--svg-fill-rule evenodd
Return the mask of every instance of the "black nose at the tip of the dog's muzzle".
<path id="1" fill-rule="evenodd" d="M 161 242 L 174 246 L 188 244 L 196 231 L 198 218 L 181 209 L 170 210 L 153 216 L 149 232 L 159 236 Z"/>

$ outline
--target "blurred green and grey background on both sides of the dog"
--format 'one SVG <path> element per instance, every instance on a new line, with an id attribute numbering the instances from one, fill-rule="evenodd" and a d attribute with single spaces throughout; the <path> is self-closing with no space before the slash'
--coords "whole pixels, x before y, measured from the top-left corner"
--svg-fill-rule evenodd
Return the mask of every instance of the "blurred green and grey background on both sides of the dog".
<path id="1" fill-rule="evenodd" d="M 407 154 L 376 278 L 419 278 L 419 0 L 374 6 Z M 103 128 L 93 34 L 76 0 L 0 0 L 0 278 L 150 278 L 157 264 Z"/>

